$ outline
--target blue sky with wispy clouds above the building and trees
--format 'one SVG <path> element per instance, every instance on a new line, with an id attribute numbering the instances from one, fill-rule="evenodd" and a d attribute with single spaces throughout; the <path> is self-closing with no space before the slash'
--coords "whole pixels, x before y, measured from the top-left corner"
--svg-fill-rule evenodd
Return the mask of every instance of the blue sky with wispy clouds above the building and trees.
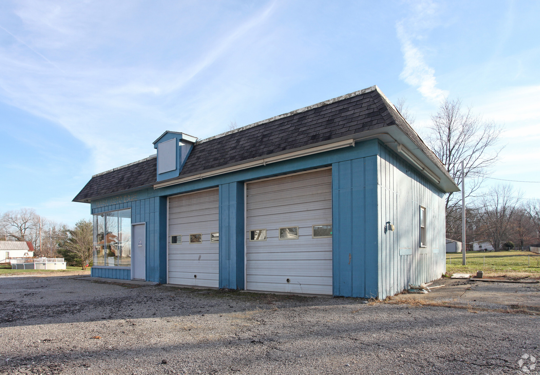
<path id="1" fill-rule="evenodd" d="M 443 96 L 505 127 L 492 177 L 540 181 L 539 2 L 3 1 L 0 211 L 75 223 L 90 177 L 379 86 L 422 131 Z M 494 181 L 494 180 L 493 180 Z M 540 184 L 516 184 L 540 197 Z"/>

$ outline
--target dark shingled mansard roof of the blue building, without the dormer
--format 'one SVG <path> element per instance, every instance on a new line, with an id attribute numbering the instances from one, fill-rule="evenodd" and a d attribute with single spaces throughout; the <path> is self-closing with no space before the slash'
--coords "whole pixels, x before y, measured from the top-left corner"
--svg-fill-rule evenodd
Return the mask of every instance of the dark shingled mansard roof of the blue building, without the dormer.
<path id="1" fill-rule="evenodd" d="M 400 127 L 424 154 L 441 165 L 374 86 L 203 140 L 194 145 L 180 176 L 392 125 Z M 89 198 L 153 184 L 156 160 L 93 177 L 73 200 L 88 202 Z"/>

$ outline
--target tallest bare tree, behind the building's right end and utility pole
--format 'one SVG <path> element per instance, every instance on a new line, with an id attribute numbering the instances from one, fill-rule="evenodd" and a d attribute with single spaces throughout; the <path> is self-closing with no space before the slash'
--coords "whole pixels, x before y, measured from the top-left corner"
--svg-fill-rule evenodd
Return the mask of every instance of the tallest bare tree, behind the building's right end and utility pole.
<path id="1" fill-rule="evenodd" d="M 460 99 L 441 102 L 438 112 L 431 115 L 431 122 L 424 137 L 426 142 L 458 185 L 461 161 L 465 162 L 465 198 L 475 198 L 483 177 L 489 174 L 504 148 L 497 146 L 502 128 L 473 114 L 471 107 L 463 108 Z M 460 227 L 461 193 L 448 193 L 445 207 L 447 231 L 453 233 Z"/>

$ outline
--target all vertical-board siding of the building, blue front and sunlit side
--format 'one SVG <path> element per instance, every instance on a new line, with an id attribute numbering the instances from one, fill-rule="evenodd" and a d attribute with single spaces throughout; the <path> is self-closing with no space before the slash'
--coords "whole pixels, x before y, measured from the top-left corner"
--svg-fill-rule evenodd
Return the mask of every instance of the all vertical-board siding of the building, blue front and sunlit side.
<path id="1" fill-rule="evenodd" d="M 219 185 L 219 287 L 243 289 L 244 180 L 326 165 L 332 165 L 334 295 L 385 298 L 407 288 L 408 283 L 428 282 L 446 271 L 444 193 L 377 140 L 168 188 L 106 198 L 92 202 L 92 213 L 131 208 L 132 223 L 146 223 L 146 280 L 165 283 L 166 196 Z M 427 209 L 425 249 L 419 243 L 420 206 Z M 384 230 L 387 221 L 395 231 Z M 91 272 L 97 277 L 131 277 L 129 269 L 92 268 Z"/>

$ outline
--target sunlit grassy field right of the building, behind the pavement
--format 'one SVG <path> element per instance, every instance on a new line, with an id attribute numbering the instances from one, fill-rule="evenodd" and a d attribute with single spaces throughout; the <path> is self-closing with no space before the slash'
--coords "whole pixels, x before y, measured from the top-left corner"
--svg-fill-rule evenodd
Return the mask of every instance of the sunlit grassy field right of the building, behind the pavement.
<path id="1" fill-rule="evenodd" d="M 528 255 L 530 257 L 528 257 Z M 528 251 L 467 252 L 467 265 L 463 266 L 461 253 L 446 254 L 446 273 L 475 274 L 483 270 L 484 275 L 531 274 L 540 276 L 540 255 Z M 485 263 L 484 263 L 485 256 Z M 529 263 L 530 261 L 530 263 Z"/>

